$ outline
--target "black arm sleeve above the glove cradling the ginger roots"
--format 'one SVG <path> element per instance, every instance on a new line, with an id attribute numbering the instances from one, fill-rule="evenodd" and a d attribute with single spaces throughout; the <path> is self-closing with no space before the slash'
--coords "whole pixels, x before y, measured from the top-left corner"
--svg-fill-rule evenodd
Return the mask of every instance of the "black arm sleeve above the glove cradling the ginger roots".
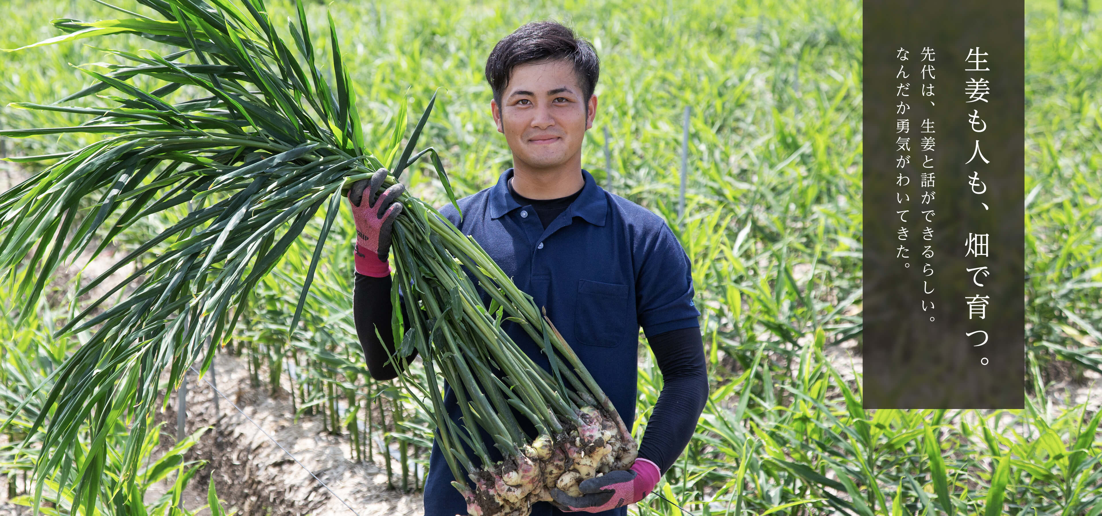
<path id="1" fill-rule="evenodd" d="M 666 473 L 692 440 L 696 420 L 704 411 L 707 366 L 699 327 L 667 331 L 648 341 L 663 383 L 647 420 L 639 457 Z"/>

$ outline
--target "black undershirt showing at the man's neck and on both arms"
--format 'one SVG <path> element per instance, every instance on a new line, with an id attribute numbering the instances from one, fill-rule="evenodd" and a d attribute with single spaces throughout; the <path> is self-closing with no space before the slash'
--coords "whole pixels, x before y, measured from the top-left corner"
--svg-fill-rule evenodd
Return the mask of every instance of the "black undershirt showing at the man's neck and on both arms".
<path id="1" fill-rule="evenodd" d="M 545 229 L 562 213 L 582 190 L 558 199 L 528 199 L 520 196 L 507 183 L 509 194 L 521 206 L 531 206 Z M 367 361 L 367 369 L 376 380 L 391 380 L 398 376 L 393 366 L 386 364 L 387 350 L 395 350 L 390 327 L 392 307 L 390 304 L 390 276 L 372 277 L 356 274 L 353 295 L 353 314 L 356 332 Z M 409 320 L 406 304 L 401 304 L 402 320 Z M 375 334 L 378 328 L 382 344 Z M 704 361 L 704 344 L 700 328 L 684 328 L 667 331 L 647 339 L 655 361 L 662 372 L 662 392 L 655 403 L 645 437 L 639 446 L 639 457 L 656 464 L 665 473 L 677 460 L 692 439 L 696 419 L 707 402 L 707 367 Z M 417 350 L 409 360 L 417 356 Z M 630 356 L 635 360 L 635 354 Z"/>

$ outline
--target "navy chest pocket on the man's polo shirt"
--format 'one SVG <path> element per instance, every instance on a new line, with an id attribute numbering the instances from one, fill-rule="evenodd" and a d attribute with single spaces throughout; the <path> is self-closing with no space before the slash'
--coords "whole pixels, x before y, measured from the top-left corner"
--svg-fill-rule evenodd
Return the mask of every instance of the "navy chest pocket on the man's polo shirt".
<path id="1" fill-rule="evenodd" d="M 614 348 L 636 323 L 627 285 L 577 281 L 574 340 L 585 345 Z"/>

